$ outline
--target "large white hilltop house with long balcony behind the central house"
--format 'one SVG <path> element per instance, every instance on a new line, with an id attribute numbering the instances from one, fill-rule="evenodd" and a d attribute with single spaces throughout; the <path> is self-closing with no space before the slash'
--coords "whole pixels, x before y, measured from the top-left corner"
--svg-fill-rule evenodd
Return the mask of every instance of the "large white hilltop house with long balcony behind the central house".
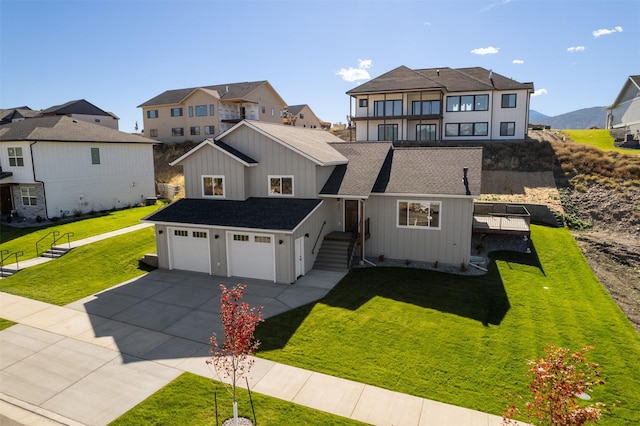
<path id="1" fill-rule="evenodd" d="M 523 140 L 533 83 L 480 67 L 400 66 L 350 90 L 357 141 Z"/>

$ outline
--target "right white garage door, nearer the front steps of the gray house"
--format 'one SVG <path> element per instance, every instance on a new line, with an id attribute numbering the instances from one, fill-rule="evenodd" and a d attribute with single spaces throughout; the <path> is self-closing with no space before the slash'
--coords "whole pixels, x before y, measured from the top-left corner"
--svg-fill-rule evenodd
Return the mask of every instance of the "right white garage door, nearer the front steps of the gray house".
<path id="1" fill-rule="evenodd" d="M 228 232 L 229 276 L 275 282 L 274 237 L 251 232 Z"/>

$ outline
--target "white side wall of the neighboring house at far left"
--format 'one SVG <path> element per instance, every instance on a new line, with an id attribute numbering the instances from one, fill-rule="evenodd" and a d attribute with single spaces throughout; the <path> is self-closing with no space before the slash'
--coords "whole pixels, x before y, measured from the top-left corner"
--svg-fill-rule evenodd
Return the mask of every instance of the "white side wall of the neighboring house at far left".
<path id="1" fill-rule="evenodd" d="M 99 164 L 92 164 L 91 148 L 99 149 Z M 135 206 L 155 196 L 150 144 L 40 142 L 32 149 L 49 217 Z"/>

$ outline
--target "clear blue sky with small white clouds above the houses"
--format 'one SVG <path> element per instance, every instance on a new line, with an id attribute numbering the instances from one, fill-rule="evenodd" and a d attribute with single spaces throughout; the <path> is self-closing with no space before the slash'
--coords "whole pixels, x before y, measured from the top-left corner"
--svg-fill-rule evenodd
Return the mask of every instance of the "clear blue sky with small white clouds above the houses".
<path id="1" fill-rule="evenodd" d="M 550 116 L 610 105 L 640 74 L 640 2 L 0 0 L 0 108 L 86 99 L 127 132 L 164 90 L 257 80 L 345 122 L 345 92 L 400 65 L 533 82 Z"/>

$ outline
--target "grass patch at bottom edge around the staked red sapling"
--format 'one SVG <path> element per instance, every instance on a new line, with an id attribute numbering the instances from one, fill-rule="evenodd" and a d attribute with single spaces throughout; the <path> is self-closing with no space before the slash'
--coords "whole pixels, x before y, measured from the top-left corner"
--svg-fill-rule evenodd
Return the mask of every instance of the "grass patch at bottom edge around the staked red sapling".
<path id="1" fill-rule="evenodd" d="M 214 402 L 217 388 L 218 423 Z M 292 402 L 252 393 L 259 425 L 360 425 L 362 423 L 296 405 Z M 110 423 L 126 425 L 215 425 L 231 417 L 232 399 L 217 382 L 184 373 L 145 401 Z M 238 389 L 238 414 L 253 419 L 249 395 Z"/>

